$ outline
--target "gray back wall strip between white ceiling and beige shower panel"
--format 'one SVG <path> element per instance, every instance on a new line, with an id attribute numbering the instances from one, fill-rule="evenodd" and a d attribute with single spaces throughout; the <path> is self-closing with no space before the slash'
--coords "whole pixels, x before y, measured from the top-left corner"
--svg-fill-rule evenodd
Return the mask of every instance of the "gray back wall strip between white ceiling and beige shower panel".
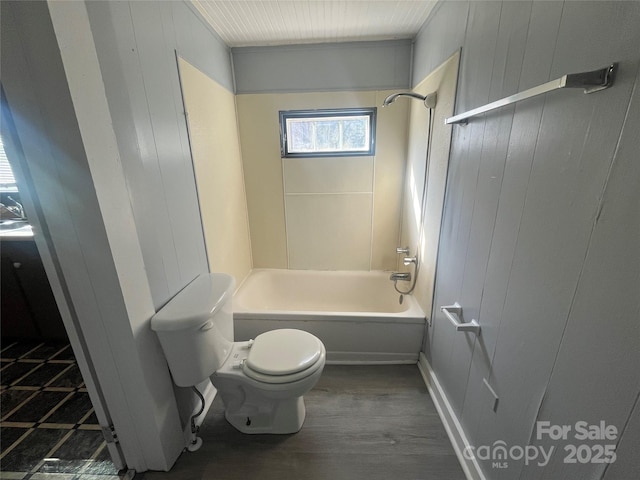
<path id="1" fill-rule="evenodd" d="M 406 89 L 411 41 L 234 48 L 236 93 Z"/>

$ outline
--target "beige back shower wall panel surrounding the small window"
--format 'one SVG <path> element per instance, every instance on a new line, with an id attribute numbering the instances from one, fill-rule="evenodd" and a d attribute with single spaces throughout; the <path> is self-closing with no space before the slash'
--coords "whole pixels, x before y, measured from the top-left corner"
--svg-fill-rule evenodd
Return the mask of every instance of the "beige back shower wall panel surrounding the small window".
<path id="1" fill-rule="evenodd" d="M 254 268 L 396 266 L 408 105 L 378 108 L 371 157 L 281 158 L 279 110 L 375 107 L 393 91 L 238 95 Z"/>

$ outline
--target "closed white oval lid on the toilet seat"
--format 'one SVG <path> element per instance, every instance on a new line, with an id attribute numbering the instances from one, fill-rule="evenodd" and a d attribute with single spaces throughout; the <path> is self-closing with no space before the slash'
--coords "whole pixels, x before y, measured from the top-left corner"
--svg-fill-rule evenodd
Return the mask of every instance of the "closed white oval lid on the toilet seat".
<path id="1" fill-rule="evenodd" d="M 314 365 L 321 352 L 322 342 L 315 336 L 283 328 L 258 335 L 245 363 L 265 375 L 289 375 Z"/>

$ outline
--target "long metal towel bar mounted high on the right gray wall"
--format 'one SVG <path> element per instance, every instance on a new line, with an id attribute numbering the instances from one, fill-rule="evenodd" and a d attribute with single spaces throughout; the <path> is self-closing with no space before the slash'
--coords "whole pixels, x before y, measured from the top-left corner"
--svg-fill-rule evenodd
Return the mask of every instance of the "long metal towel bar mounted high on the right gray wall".
<path id="1" fill-rule="evenodd" d="M 482 107 L 474 108 L 468 112 L 449 117 L 445 119 L 444 123 L 447 125 L 453 123 L 466 124 L 469 118 L 475 117 L 476 115 L 481 115 L 491 110 L 495 110 L 496 108 L 511 105 L 512 103 L 519 102 L 520 100 L 526 100 L 527 98 L 535 97 L 560 88 L 583 88 L 584 93 L 599 92 L 600 90 L 604 90 L 605 88 L 609 88 L 613 85 L 613 74 L 616 71 L 616 66 L 617 64 L 613 63 L 608 67 L 594 70 L 592 72 L 563 75 L 556 80 L 551 80 L 550 82 L 530 88 L 524 92 L 516 93 L 510 97 L 505 97 L 500 100 L 496 100 L 495 102 L 488 103 Z"/>

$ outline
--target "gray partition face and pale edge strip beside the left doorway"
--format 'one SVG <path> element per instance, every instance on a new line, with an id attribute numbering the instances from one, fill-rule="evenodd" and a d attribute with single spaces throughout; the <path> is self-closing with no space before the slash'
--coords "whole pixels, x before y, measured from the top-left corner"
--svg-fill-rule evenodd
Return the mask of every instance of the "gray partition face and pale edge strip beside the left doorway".
<path id="1" fill-rule="evenodd" d="M 91 58 L 84 5 L 3 1 L 1 7 L 2 133 L 10 135 L 9 159 L 19 166 L 34 240 L 96 414 L 101 425 L 115 426 L 130 468 L 168 469 L 183 433 L 171 377 L 148 328 L 151 294 L 111 119 L 96 93 L 96 83 L 102 86 L 96 64 L 78 59 L 75 75 L 63 55 L 73 45 L 89 53 L 83 60 Z M 61 17 L 74 26 L 64 38 L 54 30 Z M 86 93 L 90 122 L 81 120 L 86 110 L 78 90 Z M 96 152 L 92 138 L 105 148 Z M 123 193 L 109 198 L 115 191 Z"/>

